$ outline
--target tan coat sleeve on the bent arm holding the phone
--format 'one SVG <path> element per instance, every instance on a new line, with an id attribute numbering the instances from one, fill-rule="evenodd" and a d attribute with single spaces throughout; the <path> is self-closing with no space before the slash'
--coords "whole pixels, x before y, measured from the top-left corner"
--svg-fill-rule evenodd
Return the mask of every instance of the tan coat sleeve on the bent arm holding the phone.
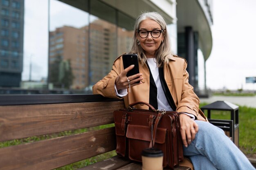
<path id="1" fill-rule="evenodd" d="M 103 77 L 103 79 L 92 86 L 93 94 L 100 94 L 104 97 L 121 99 L 121 97 L 118 97 L 115 93 L 115 81 L 117 76 L 121 73 L 120 63 L 121 57 L 115 60 L 110 73 L 108 73 L 108 75 Z"/>

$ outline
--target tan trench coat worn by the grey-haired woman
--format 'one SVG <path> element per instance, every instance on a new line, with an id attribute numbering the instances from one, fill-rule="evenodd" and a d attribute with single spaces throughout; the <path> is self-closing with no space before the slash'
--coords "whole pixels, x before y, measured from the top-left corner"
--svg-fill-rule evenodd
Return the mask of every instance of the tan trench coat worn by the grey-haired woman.
<path id="1" fill-rule="evenodd" d="M 199 109 L 199 98 L 189 84 L 189 74 L 186 67 L 186 60 L 177 56 L 171 56 L 169 64 L 164 65 L 164 79 L 177 107 L 176 111 L 191 113 L 195 115 L 195 119 L 208 121 Z M 124 66 L 120 56 L 115 60 L 110 73 L 92 87 L 93 93 L 105 97 L 120 98 L 115 93 L 115 80 L 122 71 L 124 71 Z M 139 72 L 142 73 L 144 79 L 141 80 L 142 84 L 132 87 L 130 93 L 128 92 L 128 95 L 124 97 L 126 106 L 137 101 L 149 103 L 149 70 L 146 64 L 142 66 L 139 62 Z M 148 106 L 143 104 L 136 107 L 148 109 Z M 184 161 L 182 164 L 189 166 L 188 161 Z"/>

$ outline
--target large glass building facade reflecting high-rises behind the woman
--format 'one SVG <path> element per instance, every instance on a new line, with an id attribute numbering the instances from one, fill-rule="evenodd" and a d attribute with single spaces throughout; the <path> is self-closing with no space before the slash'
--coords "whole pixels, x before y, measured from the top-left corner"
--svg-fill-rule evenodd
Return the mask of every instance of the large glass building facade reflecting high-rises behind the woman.
<path id="1" fill-rule="evenodd" d="M 189 81 L 197 89 L 197 51 L 202 49 L 204 62 L 211 51 L 210 22 L 200 8 L 209 7 L 206 2 L 0 0 L 0 94 L 92 93 L 92 85 L 110 72 L 114 60 L 129 51 L 141 11 L 164 16 L 171 48 L 188 60 Z M 190 6 L 201 10 L 189 11 Z M 197 17 L 190 15 L 195 11 Z M 207 26 L 197 27 L 194 18 Z M 187 51 L 187 27 L 193 28 L 193 51 Z"/>

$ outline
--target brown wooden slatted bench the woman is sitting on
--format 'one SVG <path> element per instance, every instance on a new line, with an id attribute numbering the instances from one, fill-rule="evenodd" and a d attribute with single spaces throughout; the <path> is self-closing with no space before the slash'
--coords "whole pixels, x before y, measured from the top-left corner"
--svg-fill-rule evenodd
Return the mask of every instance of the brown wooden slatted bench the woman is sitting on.
<path id="1" fill-rule="evenodd" d="M 100 95 L 0 95 L 2 144 L 57 136 L 0 148 L 0 170 L 51 170 L 115 150 L 113 111 L 120 108 L 124 101 Z M 106 124 L 112 127 L 94 128 Z M 82 128 L 91 131 L 58 137 Z M 114 156 L 79 170 L 141 170 L 141 163 Z"/>

